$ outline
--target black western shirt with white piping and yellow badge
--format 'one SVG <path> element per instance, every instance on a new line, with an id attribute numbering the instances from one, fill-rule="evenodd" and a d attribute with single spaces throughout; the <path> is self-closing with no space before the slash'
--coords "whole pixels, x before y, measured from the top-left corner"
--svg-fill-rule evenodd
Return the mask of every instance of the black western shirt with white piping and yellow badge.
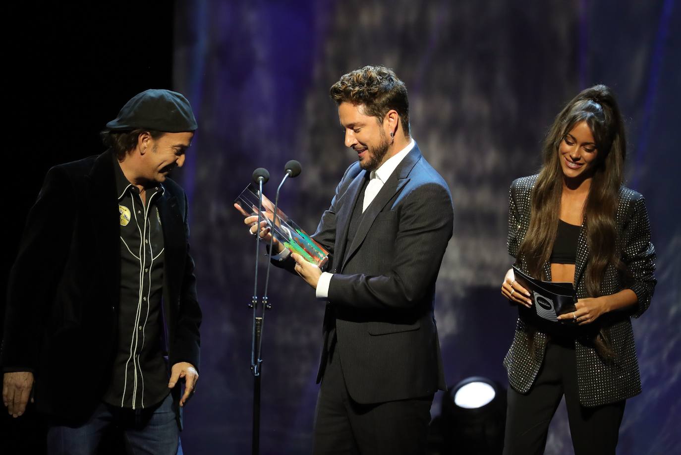
<path id="1" fill-rule="evenodd" d="M 116 161 L 116 191 L 121 232 L 121 295 L 118 345 L 104 401 L 143 409 L 168 396 L 168 366 L 163 358 L 163 230 L 155 204 L 163 186 L 140 190 L 129 183 Z"/>

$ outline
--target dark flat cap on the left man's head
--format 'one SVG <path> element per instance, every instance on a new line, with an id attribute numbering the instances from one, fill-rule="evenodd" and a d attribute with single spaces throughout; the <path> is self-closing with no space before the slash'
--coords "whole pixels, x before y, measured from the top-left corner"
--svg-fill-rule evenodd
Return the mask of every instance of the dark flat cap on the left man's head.
<path id="1" fill-rule="evenodd" d="M 166 133 L 197 129 L 187 98 L 181 93 L 163 89 L 149 89 L 133 96 L 106 127 L 112 131 L 148 128 Z"/>

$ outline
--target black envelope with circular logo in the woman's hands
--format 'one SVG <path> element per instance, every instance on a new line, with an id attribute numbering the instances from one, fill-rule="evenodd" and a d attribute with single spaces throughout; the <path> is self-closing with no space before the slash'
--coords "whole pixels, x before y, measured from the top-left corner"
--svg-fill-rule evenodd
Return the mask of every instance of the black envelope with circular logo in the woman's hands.
<path id="1" fill-rule="evenodd" d="M 527 289 L 534 300 L 533 305 L 537 317 L 545 321 L 558 321 L 556 316 L 574 311 L 577 303 L 577 292 L 572 283 L 553 283 L 530 277 L 516 266 L 513 266 L 516 281 Z M 571 322 L 571 321 L 570 321 Z"/>

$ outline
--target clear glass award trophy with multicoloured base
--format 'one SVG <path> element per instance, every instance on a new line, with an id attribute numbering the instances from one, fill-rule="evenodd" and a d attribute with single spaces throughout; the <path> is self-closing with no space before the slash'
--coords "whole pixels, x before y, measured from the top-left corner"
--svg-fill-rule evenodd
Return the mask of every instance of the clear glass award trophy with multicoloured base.
<path id="1" fill-rule="evenodd" d="M 253 183 L 247 186 L 234 202 L 239 204 L 246 213 L 257 216 L 259 190 Z M 262 217 L 272 229 L 274 238 L 287 247 L 291 253 L 298 253 L 308 262 L 317 264 L 323 270 L 328 262 L 328 251 L 315 242 L 302 228 L 283 211 L 276 208 L 276 222 L 274 220 L 274 204 L 264 194 L 262 195 Z"/>

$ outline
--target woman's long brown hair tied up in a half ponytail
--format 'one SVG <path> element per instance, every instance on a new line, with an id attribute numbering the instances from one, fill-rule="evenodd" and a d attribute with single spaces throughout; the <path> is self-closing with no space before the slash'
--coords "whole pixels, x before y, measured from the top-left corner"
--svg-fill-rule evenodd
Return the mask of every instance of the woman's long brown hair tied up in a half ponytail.
<path id="1" fill-rule="evenodd" d="M 607 264 L 620 263 L 615 212 L 627 155 L 620 110 L 612 91 L 605 85 L 595 85 L 574 97 L 548 131 L 543 145 L 543 166 L 533 191 L 530 225 L 518 252 L 519 256 L 524 255 L 530 274 L 543 277 L 543 266 L 549 260 L 558 230 L 563 191 L 558 146 L 582 121 L 591 129 L 598 150 L 583 214 L 590 253 L 584 282 L 588 294 L 597 297 L 601 295 Z"/>

